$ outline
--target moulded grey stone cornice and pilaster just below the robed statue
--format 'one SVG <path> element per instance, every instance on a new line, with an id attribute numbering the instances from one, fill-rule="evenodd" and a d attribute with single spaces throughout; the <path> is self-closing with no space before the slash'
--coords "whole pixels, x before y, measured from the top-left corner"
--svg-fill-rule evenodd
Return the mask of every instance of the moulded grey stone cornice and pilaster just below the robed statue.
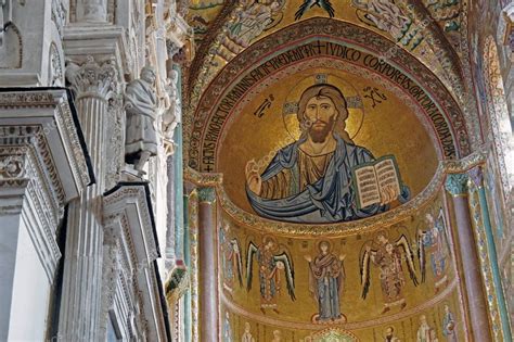
<path id="1" fill-rule="evenodd" d="M 169 339 L 167 308 L 156 264 L 155 220 L 146 182 L 123 182 L 105 193 L 104 296 L 100 340 L 105 340 L 107 319 L 116 320 L 123 340 Z M 124 291 L 119 284 L 124 283 Z M 133 319 L 123 307 L 137 307 Z M 136 321 L 131 326 L 130 321 Z"/>

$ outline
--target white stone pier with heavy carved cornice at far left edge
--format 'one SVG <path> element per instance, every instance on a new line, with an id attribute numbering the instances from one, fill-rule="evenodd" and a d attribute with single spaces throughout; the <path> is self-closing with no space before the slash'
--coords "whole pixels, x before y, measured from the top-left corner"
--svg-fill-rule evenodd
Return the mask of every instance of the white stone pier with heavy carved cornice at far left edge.
<path id="1" fill-rule="evenodd" d="M 65 90 L 0 89 L 1 341 L 46 338 L 57 226 L 90 181 L 78 129 Z"/>

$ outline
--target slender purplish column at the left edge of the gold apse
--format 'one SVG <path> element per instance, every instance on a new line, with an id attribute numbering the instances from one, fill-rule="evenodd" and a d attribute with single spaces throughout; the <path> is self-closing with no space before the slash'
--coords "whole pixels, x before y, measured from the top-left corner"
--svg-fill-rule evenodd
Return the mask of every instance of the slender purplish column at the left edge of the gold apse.
<path id="1" fill-rule="evenodd" d="M 198 190 L 200 246 L 200 337 L 201 341 L 218 341 L 218 265 L 216 255 L 216 191 Z"/>

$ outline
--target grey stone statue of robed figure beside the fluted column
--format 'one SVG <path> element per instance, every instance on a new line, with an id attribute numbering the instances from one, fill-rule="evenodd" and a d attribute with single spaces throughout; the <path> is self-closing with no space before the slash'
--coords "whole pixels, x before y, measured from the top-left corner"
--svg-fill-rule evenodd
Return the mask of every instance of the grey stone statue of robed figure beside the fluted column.
<path id="1" fill-rule="evenodd" d="M 142 172 L 149 159 L 157 154 L 158 103 L 154 88 L 155 79 L 155 71 L 145 66 L 141 71 L 141 79 L 132 80 L 125 91 L 127 111 L 125 161 L 134 165 L 138 172 Z"/>

